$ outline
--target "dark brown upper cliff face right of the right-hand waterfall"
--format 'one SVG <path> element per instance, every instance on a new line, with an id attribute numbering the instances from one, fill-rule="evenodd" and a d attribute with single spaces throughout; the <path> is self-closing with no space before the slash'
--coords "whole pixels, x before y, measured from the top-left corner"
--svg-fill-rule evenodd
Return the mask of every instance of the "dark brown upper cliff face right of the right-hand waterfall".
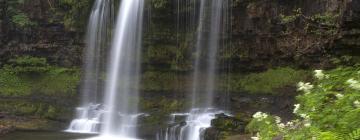
<path id="1" fill-rule="evenodd" d="M 358 6 L 351 0 L 234 1 L 234 57 L 242 69 L 295 65 L 329 67 L 349 24 L 356 23 Z M 350 23 L 349 23 L 350 22 Z M 355 26 L 354 26 L 355 27 Z M 350 27 L 353 28 L 353 27 Z M 333 32 L 333 33 L 329 33 Z M 248 67 L 248 66 L 252 67 Z M 244 67 L 246 66 L 246 67 Z"/>

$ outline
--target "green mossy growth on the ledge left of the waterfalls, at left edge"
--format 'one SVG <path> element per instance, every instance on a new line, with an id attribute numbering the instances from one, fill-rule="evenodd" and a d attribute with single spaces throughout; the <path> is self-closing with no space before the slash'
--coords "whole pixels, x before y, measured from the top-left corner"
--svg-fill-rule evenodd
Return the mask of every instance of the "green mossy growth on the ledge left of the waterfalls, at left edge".
<path id="1" fill-rule="evenodd" d="M 79 81 L 76 69 L 50 66 L 45 58 L 18 57 L 0 69 L 0 96 L 74 96 Z"/>

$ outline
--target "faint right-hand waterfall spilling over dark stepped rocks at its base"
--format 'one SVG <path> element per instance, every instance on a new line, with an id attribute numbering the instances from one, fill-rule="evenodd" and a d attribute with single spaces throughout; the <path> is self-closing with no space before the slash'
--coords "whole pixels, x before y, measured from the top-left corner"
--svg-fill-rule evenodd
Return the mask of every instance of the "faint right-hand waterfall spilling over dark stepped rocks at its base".
<path id="1" fill-rule="evenodd" d="M 217 52 L 220 42 L 222 12 L 226 0 L 201 0 L 196 43 L 196 59 L 192 86 L 192 109 L 189 113 L 173 114 L 185 118 L 185 125 L 176 124 L 158 134 L 158 140 L 200 140 L 204 130 L 211 127 L 216 114 L 214 90 Z M 210 14 L 208 14 L 208 12 Z"/>

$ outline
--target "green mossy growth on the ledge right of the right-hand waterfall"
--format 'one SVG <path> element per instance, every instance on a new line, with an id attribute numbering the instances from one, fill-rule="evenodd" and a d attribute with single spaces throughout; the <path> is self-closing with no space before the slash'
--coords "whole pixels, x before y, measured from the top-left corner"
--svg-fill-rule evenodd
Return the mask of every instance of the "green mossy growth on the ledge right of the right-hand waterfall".
<path id="1" fill-rule="evenodd" d="M 248 75 L 231 74 L 221 77 L 220 88 L 239 92 L 247 91 L 251 94 L 276 94 L 277 90 L 286 86 L 295 85 L 298 81 L 305 80 L 309 72 L 305 70 L 295 70 L 289 67 L 279 67 L 269 69 L 261 73 L 251 73 Z"/>

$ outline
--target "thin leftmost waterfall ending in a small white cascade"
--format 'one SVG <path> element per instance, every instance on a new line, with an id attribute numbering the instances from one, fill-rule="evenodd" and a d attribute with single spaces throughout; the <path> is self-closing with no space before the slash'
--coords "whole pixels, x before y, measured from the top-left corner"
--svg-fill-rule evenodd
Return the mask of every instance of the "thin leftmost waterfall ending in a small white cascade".
<path id="1" fill-rule="evenodd" d="M 86 38 L 81 106 L 76 108 L 76 119 L 66 130 L 68 132 L 99 132 L 100 117 L 103 113 L 98 99 L 98 93 L 101 90 L 101 53 L 109 42 L 112 24 L 111 7 L 110 0 L 96 0 L 92 8 Z"/>

